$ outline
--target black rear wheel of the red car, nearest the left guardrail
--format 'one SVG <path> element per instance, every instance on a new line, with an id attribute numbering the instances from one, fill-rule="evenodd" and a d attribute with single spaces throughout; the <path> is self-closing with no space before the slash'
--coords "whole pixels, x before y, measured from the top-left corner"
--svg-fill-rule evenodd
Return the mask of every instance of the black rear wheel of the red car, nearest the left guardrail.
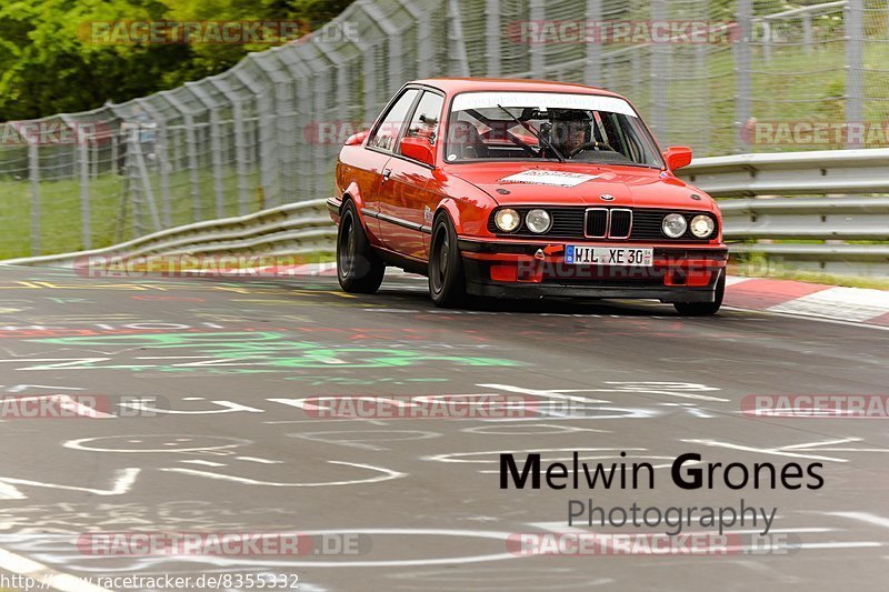
<path id="1" fill-rule="evenodd" d="M 373 250 L 358 218 L 354 203 L 347 201 L 337 232 L 337 278 L 347 292 L 372 294 L 382 283 L 386 263 Z"/>

